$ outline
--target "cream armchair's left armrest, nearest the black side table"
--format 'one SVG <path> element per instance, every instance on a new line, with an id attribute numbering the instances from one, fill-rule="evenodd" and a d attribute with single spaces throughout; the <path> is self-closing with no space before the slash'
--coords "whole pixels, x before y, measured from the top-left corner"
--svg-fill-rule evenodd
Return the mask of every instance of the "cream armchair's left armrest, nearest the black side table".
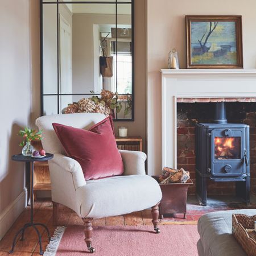
<path id="1" fill-rule="evenodd" d="M 80 163 L 75 159 L 62 154 L 55 154 L 49 161 L 50 164 L 56 164 L 61 170 L 71 172 L 76 189 L 86 184 Z"/>

